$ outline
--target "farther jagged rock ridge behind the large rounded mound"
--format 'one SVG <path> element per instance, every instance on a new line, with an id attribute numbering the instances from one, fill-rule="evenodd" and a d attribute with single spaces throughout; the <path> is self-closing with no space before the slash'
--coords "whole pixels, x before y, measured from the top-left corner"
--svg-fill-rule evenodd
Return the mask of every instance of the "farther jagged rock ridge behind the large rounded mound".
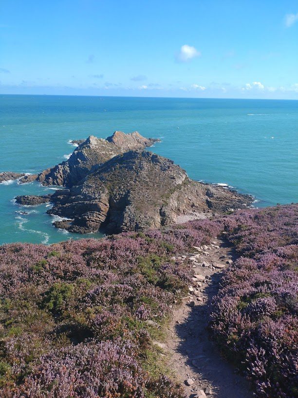
<path id="1" fill-rule="evenodd" d="M 152 145 L 157 139 L 147 139 L 139 133 L 124 134 L 116 131 L 107 139 L 99 139 L 93 136 L 84 140 L 75 140 L 78 147 L 71 157 L 62 163 L 44 170 L 37 177 L 43 185 L 60 185 L 72 187 L 85 178 L 93 167 L 104 163 L 116 155 L 131 149 L 144 149 Z"/>

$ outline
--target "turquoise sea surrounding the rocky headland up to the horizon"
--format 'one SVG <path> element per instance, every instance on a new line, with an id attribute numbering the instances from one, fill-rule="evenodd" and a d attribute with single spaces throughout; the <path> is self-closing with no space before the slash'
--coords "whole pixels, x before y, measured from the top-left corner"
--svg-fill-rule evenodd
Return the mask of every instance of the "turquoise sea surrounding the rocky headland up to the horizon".
<path id="1" fill-rule="evenodd" d="M 67 159 L 75 149 L 70 140 L 115 130 L 160 138 L 149 150 L 192 179 L 254 195 L 258 207 L 298 202 L 298 101 L 291 100 L 0 95 L 0 171 L 40 172 Z M 0 184 L 0 244 L 86 237 L 56 229 L 45 214 L 49 205 L 13 201 L 53 189 Z"/>

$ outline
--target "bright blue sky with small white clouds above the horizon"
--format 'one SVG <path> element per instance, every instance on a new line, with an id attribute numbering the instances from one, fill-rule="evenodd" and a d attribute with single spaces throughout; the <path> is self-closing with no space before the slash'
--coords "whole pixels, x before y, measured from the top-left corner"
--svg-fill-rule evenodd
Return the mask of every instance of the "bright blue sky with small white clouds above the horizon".
<path id="1" fill-rule="evenodd" d="M 0 93 L 298 99 L 298 1 L 1 0 Z"/>

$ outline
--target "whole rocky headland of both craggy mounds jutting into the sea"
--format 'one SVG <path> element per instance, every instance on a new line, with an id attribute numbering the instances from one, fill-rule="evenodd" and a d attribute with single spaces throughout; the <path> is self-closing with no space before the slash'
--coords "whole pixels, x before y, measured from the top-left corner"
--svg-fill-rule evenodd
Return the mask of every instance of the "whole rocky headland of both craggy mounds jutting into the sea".
<path id="1" fill-rule="evenodd" d="M 249 195 L 191 180 L 172 160 L 144 151 L 156 141 L 120 131 L 107 139 L 79 140 L 67 161 L 34 176 L 43 185 L 65 189 L 41 197 L 18 196 L 16 201 L 52 202 L 47 213 L 64 218 L 54 225 L 81 234 L 143 231 L 252 203 Z"/>

